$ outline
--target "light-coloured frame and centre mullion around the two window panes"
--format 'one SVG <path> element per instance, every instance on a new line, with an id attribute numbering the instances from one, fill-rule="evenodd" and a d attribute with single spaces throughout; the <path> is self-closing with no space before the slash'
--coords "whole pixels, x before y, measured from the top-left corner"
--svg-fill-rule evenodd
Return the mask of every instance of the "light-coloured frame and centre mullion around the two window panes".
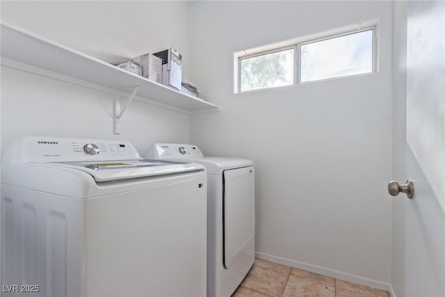
<path id="1" fill-rule="evenodd" d="M 361 24 L 359 24 L 360 26 Z M 293 41 L 293 42 L 289 42 L 287 45 L 283 45 L 283 43 L 280 43 L 280 45 L 275 45 L 275 46 L 269 46 L 267 47 L 268 49 L 264 49 L 265 47 L 261 47 L 261 50 L 258 51 L 252 51 L 250 54 L 240 54 L 238 56 L 236 56 L 236 58 L 238 59 L 238 63 L 237 63 L 237 67 L 236 67 L 236 71 L 237 73 L 237 78 L 238 81 L 236 83 L 237 86 L 237 90 L 236 93 L 245 93 L 245 92 L 251 92 L 251 91 L 255 91 L 255 90 L 264 90 L 265 88 L 257 88 L 257 89 L 253 89 L 253 90 L 241 90 L 241 61 L 246 59 L 246 58 L 254 58 L 256 56 L 264 56 L 266 54 L 273 54 L 277 51 L 285 51 L 287 49 L 293 49 L 293 83 L 287 86 L 293 86 L 293 85 L 299 85 L 302 83 L 312 83 L 314 81 L 325 81 L 327 79 L 318 79 L 318 80 L 314 80 L 314 81 L 301 81 L 301 47 L 302 45 L 310 45 L 312 43 L 315 42 L 320 42 L 323 40 L 330 40 L 330 39 L 334 39 L 334 38 L 339 38 L 342 36 L 346 36 L 346 35 L 352 35 L 355 33 L 361 33 L 364 31 L 372 31 L 373 37 L 372 37 L 372 70 L 371 72 L 365 72 L 365 73 L 359 73 L 359 74 L 351 74 L 351 75 L 345 75 L 342 77 L 332 77 L 332 78 L 327 78 L 327 79 L 339 79 L 339 78 L 343 78 L 343 77 L 354 77 L 356 75 L 363 75 L 363 74 L 372 74 L 375 72 L 378 72 L 378 24 L 371 24 L 368 26 L 362 26 L 359 27 L 357 29 L 348 29 L 348 30 L 342 30 L 342 31 L 338 31 L 339 33 L 333 33 L 333 34 L 327 34 L 327 35 L 321 35 L 321 37 L 318 38 L 305 38 L 305 39 L 300 39 L 297 41 Z M 318 36 L 320 36 L 320 34 L 317 34 Z M 246 52 L 246 51 L 245 51 Z M 266 87 L 266 88 L 277 88 L 279 86 L 270 86 L 270 87 Z"/>

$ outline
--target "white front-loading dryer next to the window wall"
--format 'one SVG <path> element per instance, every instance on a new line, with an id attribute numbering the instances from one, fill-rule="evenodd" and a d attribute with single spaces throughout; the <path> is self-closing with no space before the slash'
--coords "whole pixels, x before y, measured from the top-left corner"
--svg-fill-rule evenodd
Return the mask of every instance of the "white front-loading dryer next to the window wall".
<path id="1" fill-rule="evenodd" d="M 207 170 L 207 296 L 228 297 L 254 262 L 254 163 L 248 159 L 205 157 L 196 145 L 155 143 L 154 159 L 187 160 Z"/>

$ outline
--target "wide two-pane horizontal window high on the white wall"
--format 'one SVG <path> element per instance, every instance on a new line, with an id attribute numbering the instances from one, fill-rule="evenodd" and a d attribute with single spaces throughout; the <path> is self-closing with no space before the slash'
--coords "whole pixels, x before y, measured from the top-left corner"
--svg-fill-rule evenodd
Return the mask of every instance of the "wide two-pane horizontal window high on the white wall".
<path id="1" fill-rule="evenodd" d="M 375 72 L 375 27 L 238 56 L 238 92 Z"/>

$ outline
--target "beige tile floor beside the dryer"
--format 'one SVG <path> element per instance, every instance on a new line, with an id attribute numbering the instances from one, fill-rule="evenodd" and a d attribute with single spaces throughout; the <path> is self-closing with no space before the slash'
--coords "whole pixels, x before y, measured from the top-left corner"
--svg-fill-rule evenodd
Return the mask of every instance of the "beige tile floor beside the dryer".
<path id="1" fill-rule="evenodd" d="M 232 297 L 389 297 L 387 291 L 255 259 Z"/>

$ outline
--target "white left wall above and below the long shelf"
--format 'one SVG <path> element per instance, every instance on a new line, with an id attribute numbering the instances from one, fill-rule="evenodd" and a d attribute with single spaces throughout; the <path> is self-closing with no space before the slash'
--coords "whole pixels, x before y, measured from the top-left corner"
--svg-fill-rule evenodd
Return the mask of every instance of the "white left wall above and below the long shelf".
<path id="1" fill-rule="evenodd" d="M 167 11 L 172 18 L 160 26 Z M 1 1 L 1 20 L 104 61 L 170 46 L 188 56 L 184 2 Z M 186 113 L 135 101 L 123 115 L 117 136 L 112 90 L 7 64 L 1 66 L 2 152 L 22 135 L 122 139 L 140 152 L 156 141 L 188 142 Z"/>

